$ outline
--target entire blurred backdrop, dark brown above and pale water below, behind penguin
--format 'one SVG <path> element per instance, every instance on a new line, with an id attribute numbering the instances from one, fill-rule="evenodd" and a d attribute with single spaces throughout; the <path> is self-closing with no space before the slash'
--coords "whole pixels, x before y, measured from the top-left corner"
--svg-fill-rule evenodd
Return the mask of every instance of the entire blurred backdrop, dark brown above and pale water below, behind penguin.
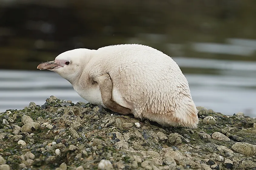
<path id="1" fill-rule="evenodd" d="M 141 43 L 171 56 L 197 106 L 256 117 L 255 0 L 0 0 L 0 111 L 84 101 L 37 65 L 67 50 Z"/>

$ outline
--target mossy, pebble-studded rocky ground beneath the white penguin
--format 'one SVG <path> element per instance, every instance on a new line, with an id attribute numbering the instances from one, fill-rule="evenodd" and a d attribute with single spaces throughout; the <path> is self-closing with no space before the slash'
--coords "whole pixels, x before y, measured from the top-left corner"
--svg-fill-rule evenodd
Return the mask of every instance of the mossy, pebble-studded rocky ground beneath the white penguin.
<path id="1" fill-rule="evenodd" d="M 191 130 L 55 96 L 31 102 L 0 113 L 0 170 L 255 170 L 256 119 L 197 108 Z"/>

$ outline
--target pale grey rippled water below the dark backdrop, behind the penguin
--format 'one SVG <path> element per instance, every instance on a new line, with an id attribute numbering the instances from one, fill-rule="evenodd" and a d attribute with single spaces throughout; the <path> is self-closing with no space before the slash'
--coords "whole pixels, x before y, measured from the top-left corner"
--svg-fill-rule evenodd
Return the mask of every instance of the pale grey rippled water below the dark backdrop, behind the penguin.
<path id="1" fill-rule="evenodd" d="M 239 111 L 256 117 L 256 62 L 172 57 L 181 69 L 215 69 L 218 74 L 185 72 L 197 106 L 232 115 Z M 51 95 L 84 101 L 71 84 L 50 71 L 0 70 L 0 111 L 23 109 L 30 101 L 44 104 Z"/>

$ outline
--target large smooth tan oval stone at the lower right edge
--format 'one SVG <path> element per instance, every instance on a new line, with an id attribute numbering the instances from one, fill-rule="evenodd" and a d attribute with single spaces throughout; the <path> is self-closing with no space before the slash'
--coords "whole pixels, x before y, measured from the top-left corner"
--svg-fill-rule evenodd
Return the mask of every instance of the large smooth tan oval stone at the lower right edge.
<path id="1" fill-rule="evenodd" d="M 256 145 L 250 143 L 237 142 L 231 147 L 235 152 L 244 155 L 256 155 Z"/>

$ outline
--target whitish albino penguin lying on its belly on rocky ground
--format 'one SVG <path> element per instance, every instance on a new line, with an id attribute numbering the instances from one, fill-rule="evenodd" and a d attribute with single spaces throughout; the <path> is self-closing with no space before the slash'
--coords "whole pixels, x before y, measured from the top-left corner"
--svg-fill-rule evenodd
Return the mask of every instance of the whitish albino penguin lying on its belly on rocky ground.
<path id="1" fill-rule="evenodd" d="M 120 44 L 69 50 L 38 69 L 58 73 L 82 98 L 162 126 L 196 128 L 197 109 L 175 61 L 152 47 Z"/>

